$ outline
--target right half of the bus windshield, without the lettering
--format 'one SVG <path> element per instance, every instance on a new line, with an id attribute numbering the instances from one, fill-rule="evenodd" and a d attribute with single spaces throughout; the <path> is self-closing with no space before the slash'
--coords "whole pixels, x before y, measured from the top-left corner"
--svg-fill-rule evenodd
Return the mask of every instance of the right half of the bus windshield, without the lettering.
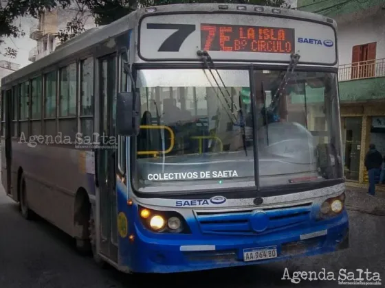
<path id="1" fill-rule="evenodd" d="M 259 184 L 342 178 L 335 73 L 255 71 Z M 279 89 L 278 89 L 279 87 Z"/>

